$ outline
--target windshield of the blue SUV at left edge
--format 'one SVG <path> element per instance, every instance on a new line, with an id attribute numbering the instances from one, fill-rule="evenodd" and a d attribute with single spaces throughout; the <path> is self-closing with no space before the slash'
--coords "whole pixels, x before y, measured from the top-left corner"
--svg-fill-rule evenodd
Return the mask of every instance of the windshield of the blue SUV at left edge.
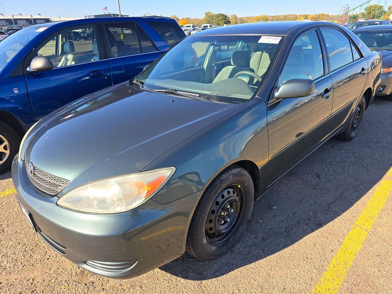
<path id="1" fill-rule="evenodd" d="M 24 45 L 44 29 L 46 27 L 25 27 L 2 40 L 0 42 L 0 72 Z"/>

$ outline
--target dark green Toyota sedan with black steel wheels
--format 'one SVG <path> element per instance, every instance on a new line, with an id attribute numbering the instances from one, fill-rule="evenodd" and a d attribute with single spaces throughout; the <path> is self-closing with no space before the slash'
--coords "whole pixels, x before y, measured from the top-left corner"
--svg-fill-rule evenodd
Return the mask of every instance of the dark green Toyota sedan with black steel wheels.
<path id="1" fill-rule="evenodd" d="M 358 134 L 380 70 L 379 53 L 328 22 L 199 32 L 36 123 L 13 161 L 18 201 L 54 250 L 103 276 L 185 249 L 217 258 L 255 199 L 329 138 Z"/>

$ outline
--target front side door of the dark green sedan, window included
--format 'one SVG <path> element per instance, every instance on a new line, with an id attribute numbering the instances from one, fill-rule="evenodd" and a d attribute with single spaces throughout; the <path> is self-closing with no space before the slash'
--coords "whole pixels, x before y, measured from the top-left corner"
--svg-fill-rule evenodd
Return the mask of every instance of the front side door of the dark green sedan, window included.
<path id="1" fill-rule="evenodd" d="M 267 106 L 269 178 L 271 184 L 325 138 L 332 108 L 332 78 L 325 75 L 316 30 L 302 34 L 292 46 L 278 87 L 297 78 L 314 80 L 306 97 L 270 101 Z"/>

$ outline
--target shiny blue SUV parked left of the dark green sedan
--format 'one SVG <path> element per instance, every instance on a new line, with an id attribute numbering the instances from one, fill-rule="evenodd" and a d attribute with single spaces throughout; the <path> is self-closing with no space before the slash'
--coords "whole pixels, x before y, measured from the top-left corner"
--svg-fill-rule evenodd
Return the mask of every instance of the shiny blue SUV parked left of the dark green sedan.
<path id="1" fill-rule="evenodd" d="M 161 27 L 175 33 L 160 35 Z M 37 120 L 77 98 L 134 78 L 182 38 L 185 34 L 175 20 L 156 17 L 51 22 L 4 34 L 0 173 L 9 171 L 25 131 Z"/>

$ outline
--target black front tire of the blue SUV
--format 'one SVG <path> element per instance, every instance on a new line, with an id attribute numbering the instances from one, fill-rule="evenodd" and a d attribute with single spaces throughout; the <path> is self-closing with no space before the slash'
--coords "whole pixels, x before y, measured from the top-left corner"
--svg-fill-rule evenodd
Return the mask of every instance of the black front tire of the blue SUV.
<path id="1" fill-rule="evenodd" d="M 6 158 L 3 163 L 0 163 L 0 174 L 11 169 L 12 161 L 16 153 L 19 151 L 19 145 L 21 141 L 19 134 L 4 122 L 0 122 L 0 146 L 5 142 L 2 137 L 5 138 L 5 140 L 8 142 L 5 148 L 9 147 L 9 154 L 7 156 L 5 152 L 0 152 L 0 162 L 2 159 Z M 0 150 L 3 149 L 1 148 Z"/>

